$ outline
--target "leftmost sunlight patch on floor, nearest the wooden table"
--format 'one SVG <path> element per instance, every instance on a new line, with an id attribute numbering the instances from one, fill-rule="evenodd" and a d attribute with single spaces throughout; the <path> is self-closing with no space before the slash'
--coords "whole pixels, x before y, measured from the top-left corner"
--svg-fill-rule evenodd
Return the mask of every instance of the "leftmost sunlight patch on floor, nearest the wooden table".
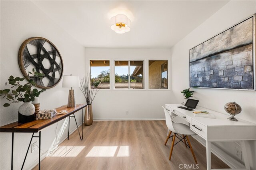
<path id="1" fill-rule="evenodd" d="M 85 146 L 58 146 L 48 157 L 76 157 Z"/>

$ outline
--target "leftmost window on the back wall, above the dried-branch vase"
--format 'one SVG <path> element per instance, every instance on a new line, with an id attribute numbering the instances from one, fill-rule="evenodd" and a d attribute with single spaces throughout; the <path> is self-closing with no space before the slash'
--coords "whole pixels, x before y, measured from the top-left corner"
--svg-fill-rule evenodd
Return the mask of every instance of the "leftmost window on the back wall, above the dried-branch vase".
<path id="1" fill-rule="evenodd" d="M 90 60 L 91 88 L 110 89 L 109 60 Z"/>

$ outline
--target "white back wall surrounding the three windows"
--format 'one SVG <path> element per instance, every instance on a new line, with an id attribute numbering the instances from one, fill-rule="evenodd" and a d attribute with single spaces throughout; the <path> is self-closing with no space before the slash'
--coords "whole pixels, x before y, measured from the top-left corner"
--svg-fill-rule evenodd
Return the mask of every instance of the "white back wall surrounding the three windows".
<path id="1" fill-rule="evenodd" d="M 86 72 L 90 60 L 110 60 L 110 75 L 114 75 L 114 60 L 145 60 L 145 89 L 100 90 L 92 103 L 94 119 L 164 119 L 162 107 L 171 103 L 171 90 L 148 90 L 148 60 L 168 60 L 170 75 L 170 49 L 141 48 L 86 48 Z M 169 77 L 169 84 L 170 84 Z M 110 77 L 114 87 L 114 76 Z M 129 114 L 126 115 L 126 111 Z"/>

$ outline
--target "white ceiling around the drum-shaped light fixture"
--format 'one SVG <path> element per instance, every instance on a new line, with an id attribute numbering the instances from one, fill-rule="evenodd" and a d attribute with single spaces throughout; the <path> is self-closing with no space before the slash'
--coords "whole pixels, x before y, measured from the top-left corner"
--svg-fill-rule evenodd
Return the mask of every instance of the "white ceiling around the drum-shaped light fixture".
<path id="1" fill-rule="evenodd" d="M 228 1 L 32 1 L 85 47 L 172 47 Z M 110 18 L 131 20 L 116 34 Z"/>

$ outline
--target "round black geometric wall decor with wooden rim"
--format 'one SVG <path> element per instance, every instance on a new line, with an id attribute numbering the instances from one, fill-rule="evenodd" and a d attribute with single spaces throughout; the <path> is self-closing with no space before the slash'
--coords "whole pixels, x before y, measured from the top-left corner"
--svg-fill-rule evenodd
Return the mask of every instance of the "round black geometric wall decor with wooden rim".
<path id="1" fill-rule="evenodd" d="M 49 40 L 42 37 L 32 37 L 25 40 L 18 53 L 20 70 L 27 80 L 33 79 L 36 87 L 49 89 L 56 86 L 63 74 L 63 61 L 60 52 Z M 44 73 L 43 80 L 28 75 L 35 69 Z"/>

